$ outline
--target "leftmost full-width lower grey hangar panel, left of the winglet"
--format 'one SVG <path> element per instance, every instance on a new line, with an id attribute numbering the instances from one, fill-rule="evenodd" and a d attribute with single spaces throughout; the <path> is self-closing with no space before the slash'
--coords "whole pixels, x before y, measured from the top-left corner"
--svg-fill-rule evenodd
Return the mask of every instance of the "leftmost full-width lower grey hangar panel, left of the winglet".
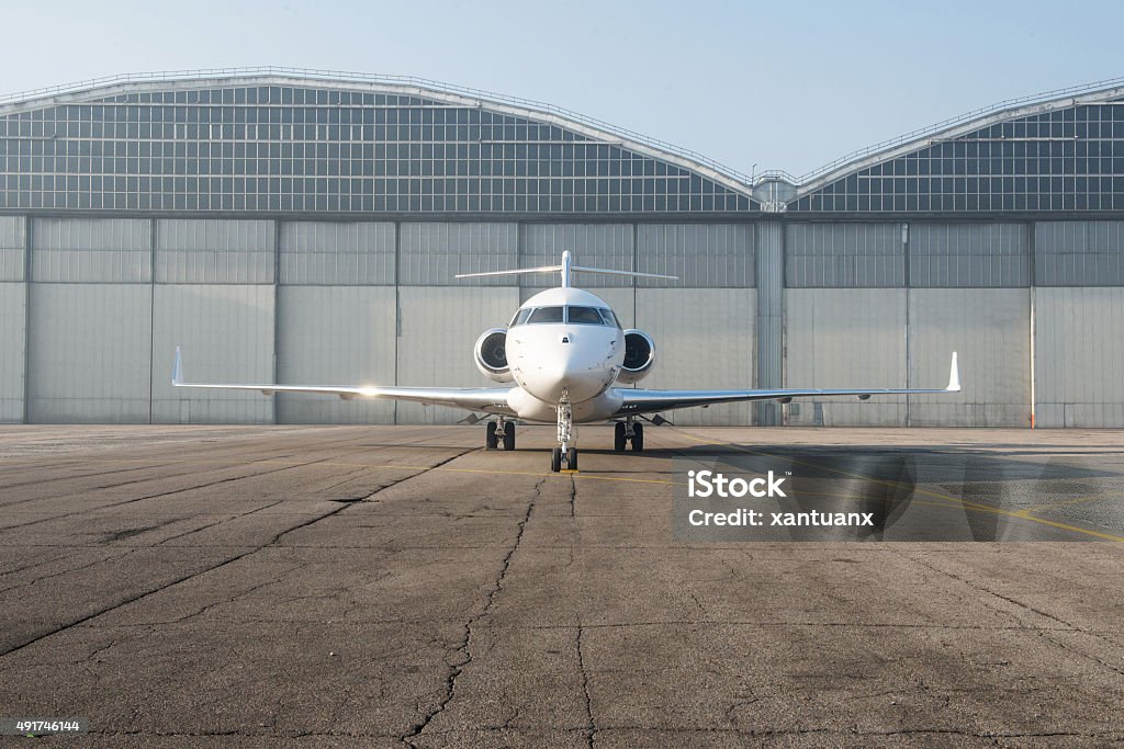
<path id="1" fill-rule="evenodd" d="M 28 420 L 148 421 L 152 286 L 35 283 Z"/>

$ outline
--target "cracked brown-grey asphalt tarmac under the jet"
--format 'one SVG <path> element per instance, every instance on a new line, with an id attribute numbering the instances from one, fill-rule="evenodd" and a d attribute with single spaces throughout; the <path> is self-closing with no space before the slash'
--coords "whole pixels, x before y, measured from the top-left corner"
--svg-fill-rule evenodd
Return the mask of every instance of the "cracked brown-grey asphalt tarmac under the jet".
<path id="1" fill-rule="evenodd" d="M 552 432 L 0 427 L 0 718 L 84 718 L 42 740 L 82 747 L 1124 746 L 1121 432 L 618 455 L 584 427 L 550 474 Z M 819 446 L 970 456 L 1059 540 L 674 540 L 674 458 Z"/>

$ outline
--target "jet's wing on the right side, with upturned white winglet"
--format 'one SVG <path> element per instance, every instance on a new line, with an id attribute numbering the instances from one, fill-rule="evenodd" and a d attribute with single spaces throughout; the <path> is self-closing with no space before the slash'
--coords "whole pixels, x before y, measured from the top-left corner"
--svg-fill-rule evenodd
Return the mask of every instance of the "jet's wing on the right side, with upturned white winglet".
<path id="1" fill-rule="evenodd" d="M 952 353 L 952 366 L 949 371 L 949 384 L 941 389 L 903 389 L 886 390 L 868 387 L 859 390 L 632 390 L 617 391 L 624 396 L 624 403 L 614 415 L 631 413 L 654 413 L 714 403 L 735 403 L 738 401 L 780 401 L 788 403 L 796 398 L 835 398 L 853 395 L 864 401 L 871 395 L 932 395 L 939 393 L 960 392 L 960 369 L 957 365 L 957 354 Z"/>

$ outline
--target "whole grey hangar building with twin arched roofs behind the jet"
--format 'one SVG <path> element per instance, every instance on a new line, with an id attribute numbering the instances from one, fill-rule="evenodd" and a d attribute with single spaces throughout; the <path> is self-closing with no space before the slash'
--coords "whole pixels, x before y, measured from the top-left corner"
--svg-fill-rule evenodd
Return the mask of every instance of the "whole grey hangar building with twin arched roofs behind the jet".
<path id="1" fill-rule="evenodd" d="M 841 113 L 844 117 L 845 113 Z M 287 68 L 0 98 L 0 420 L 452 422 L 173 391 L 487 384 L 472 346 L 556 263 L 653 335 L 652 387 L 964 390 L 678 423 L 1124 427 L 1124 80 L 751 179 L 551 106 Z"/>

